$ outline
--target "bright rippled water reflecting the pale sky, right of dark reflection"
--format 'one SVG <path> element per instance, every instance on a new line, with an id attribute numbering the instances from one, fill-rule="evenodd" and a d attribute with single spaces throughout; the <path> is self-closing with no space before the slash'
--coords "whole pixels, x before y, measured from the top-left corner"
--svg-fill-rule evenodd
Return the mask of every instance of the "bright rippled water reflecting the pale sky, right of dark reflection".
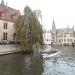
<path id="1" fill-rule="evenodd" d="M 61 50 L 59 56 L 43 59 L 43 75 L 75 75 L 75 48 L 56 46 Z"/>

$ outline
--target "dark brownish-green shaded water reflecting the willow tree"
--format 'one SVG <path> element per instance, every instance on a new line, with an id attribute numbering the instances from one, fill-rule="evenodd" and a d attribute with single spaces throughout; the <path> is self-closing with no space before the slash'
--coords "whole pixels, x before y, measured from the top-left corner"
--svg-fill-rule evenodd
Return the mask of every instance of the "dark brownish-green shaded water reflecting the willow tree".
<path id="1" fill-rule="evenodd" d="M 41 75 L 42 59 L 33 55 L 9 54 L 0 57 L 0 75 Z"/>

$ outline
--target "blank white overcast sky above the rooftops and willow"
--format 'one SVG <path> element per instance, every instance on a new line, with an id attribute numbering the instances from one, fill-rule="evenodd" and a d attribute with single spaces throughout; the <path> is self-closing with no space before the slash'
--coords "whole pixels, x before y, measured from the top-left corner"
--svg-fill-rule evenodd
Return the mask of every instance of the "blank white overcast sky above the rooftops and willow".
<path id="1" fill-rule="evenodd" d="M 53 19 L 57 28 L 75 26 L 75 0 L 4 0 L 6 2 L 21 12 L 26 5 L 32 10 L 40 9 L 43 25 L 48 30 L 52 27 Z"/>

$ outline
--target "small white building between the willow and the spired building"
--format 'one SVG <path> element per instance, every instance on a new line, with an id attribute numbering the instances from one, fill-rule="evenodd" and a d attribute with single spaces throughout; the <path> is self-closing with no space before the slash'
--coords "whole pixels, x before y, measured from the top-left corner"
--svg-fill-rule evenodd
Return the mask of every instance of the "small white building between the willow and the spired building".
<path id="1" fill-rule="evenodd" d="M 44 44 L 51 44 L 51 31 L 44 30 L 43 40 L 44 40 Z"/>

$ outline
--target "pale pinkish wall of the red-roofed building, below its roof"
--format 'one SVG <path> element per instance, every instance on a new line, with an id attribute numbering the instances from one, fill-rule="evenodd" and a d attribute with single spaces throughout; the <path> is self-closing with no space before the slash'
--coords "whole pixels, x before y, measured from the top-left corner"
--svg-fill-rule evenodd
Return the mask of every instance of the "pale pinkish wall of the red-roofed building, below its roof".
<path id="1" fill-rule="evenodd" d="M 4 23 L 7 23 L 7 29 L 4 29 Z M 3 40 L 3 33 L 7 33 L 8 41 L 13 41 L 13 34 L 15 33 L 14 22 L 0 20 L 0 41 Z"/>

